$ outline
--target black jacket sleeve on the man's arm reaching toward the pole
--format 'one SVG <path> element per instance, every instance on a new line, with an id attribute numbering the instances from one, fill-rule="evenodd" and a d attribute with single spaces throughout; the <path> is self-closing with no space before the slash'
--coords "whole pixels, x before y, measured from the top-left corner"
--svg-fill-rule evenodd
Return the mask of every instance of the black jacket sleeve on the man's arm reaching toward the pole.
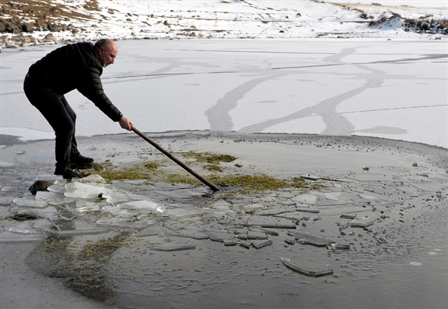
<path id="1" fill-rule="evenodd" d="M 105 95 L 100 75 L 101 72 L 99 72 L 98 68 L 87 67 L 85 77 L 82 78 L 77 89 L 110 119 L 118 121 L 123 117 L 123 114 L 112 104 L 108 96 Z"/>

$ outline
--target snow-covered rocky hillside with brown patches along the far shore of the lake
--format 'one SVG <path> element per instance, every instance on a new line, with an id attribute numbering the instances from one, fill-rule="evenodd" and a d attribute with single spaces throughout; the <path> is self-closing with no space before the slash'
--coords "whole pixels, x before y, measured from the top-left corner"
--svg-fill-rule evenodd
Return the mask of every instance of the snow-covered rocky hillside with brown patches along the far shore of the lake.
<path id="1" fill-rule="evenodd" d="M 50 0 L 1 5 L 0 45 L 112 39 L 447 37 L 446 8 L 252 0 Z"/>

